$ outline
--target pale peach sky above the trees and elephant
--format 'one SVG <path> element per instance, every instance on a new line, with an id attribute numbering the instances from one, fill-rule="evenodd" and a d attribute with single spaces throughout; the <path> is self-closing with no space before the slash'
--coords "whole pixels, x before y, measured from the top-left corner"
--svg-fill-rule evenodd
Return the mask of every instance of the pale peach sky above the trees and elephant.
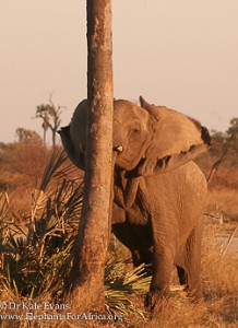
<path id="1" fill-rule="evenodd" d="M 86 1 L 0 0 L 0 142 L 36 106 L 86 97 Z M 165 105 L 225 131 L 238 116 L 238 0 L 112 0 L 116 98 Z"/>

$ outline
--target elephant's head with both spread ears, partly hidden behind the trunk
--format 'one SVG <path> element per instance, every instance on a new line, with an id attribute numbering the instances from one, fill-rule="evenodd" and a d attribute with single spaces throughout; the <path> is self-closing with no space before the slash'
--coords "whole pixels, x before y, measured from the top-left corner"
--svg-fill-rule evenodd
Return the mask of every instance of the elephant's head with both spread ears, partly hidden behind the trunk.
<path id="1" fill-rule="evenodd" d="M 207 130 L 176 110 L 156 107 L 140 97 L 141 107 L 128 101 L 114 103 L 116 166 L 129 176 L 175 169 L 210 145 Z M 76 107 L 69 127 L 60 134 L 72 162 L 85 169 L 87 101 Z"/>

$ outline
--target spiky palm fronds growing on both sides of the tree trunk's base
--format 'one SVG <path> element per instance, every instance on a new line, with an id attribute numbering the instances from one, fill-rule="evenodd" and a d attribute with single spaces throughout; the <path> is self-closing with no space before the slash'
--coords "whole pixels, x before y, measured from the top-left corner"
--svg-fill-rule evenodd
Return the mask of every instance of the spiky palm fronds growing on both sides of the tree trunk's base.
<path id="1" fill-rule="evenodd" d="M 83 181 L 72 177 L 74 169 L 62 152 L 52 153 L 22 224 L 9 195 L 0 195 L 0 302 L 66 302 L 83 199 Z M 123 262 L 110 258 L 106 265 L 106 308 L 144 318 L 128 295 L 148 289 L 150 278 L 144 277 L 143 266 L 122 274 Z"/>

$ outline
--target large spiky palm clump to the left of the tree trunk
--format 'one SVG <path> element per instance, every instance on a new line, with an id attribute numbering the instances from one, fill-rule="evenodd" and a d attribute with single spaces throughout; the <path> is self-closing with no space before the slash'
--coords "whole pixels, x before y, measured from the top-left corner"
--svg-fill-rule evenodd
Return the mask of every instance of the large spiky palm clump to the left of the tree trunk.
<path id="1" fill-rule="evenodd" d="M 69 176 L 71 166 L 66 166 L 64 161 L 63 152 L 52 152 L 39 187 L 33 191 L 27 225 L 22 229 L 14 218 L 4 223 L 1 276 L 15 295 L 33 298 L 47 289 L 57 294 L 69 273 L 70 266 L 64 262 L 78 231 L 83 187 L 82 181 Z"/>

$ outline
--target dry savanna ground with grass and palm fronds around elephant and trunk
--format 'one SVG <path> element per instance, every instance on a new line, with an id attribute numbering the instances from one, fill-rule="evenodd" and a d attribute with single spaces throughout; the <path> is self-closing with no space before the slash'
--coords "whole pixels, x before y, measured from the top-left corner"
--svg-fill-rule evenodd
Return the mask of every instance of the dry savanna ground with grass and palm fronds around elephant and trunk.
<path id="1" fill-rule="evenodd" d="M 221 154 L 218 149 L 199 160 L 206 176 Z M 110 315 L 107 321 L 95 319 L 99 314 L 90 308 L 82 314 L 88 295 L 79 304 L 70 296 L 62 298 L 82 206 L 81 172 L 60 151 L 52 154 L 38 139 L 1 144 L 0 327 L 237 327 L 238 253 L 230 251 L 233 241 L 223 245 L 217 241 L 229 238 L 233 232 L 233 238 L 238 234 L 237 161 L 237 152 L 228 151 L 209 185 L 202 247 L 203 302 L 193 304 L 185 292 L 174 289 L 178 283 L 174 274 L 169 300 L 159 314 L 151 316 L 143 306 L 150 278 L 143 277 L 143 267 L 132 270 L 128 250 L 111 238 L 103 314 Z M 31 303 L 41 308 L 27 309 Z M 26 313 L 39 317 L 26 320 Z M 63 318 L 67 313 L 72 314 L 68 319 Z M 1 317 L 3 314 L 23 318 Z M 79 314 L 84 317 L 73 317 Z"/>

